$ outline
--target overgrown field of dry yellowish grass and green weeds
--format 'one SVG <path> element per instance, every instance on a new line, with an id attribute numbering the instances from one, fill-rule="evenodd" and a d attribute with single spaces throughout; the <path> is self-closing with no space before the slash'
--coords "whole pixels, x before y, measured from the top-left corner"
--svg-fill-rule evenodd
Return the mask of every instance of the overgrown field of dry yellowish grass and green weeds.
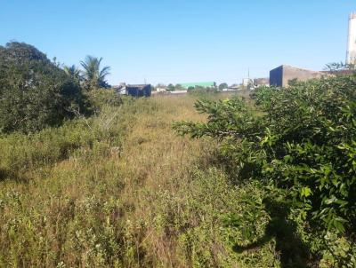
<path id="1" fill-rule="evenodd" d="M 126 100 L 0 138 L 0 266 L 280 267 L 303 256 L 293 233 L 268 236 L 265 187 L 233 185 L 214 141 L 174 133 L 174 121 L 205 120 L 194 102 Z"/>

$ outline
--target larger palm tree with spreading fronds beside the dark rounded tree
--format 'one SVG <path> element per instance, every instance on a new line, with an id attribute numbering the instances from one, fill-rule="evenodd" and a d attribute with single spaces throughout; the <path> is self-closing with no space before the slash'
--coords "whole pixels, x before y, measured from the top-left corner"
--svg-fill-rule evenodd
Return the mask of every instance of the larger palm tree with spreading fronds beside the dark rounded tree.
<path id="1" fill-rule="evenodd" d="M 80 64 L 84 68 L 84 78 L 85 86 L 88 89 L 96 88 L 106 88 L 108 83 L 106 83 L 105 77 L 109 75 L 110 67 L 106 66 L 101 69 L 101 60 L 93 56 L 86 56 L 84 61 L 81 61 Z"/>

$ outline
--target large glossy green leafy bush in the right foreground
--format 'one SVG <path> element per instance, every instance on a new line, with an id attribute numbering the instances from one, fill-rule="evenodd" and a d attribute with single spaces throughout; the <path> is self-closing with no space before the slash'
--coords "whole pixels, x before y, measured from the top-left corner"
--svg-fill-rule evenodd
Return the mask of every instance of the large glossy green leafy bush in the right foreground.
<path id="1" fill-rule="evenodd" d="M 356 233 L 356 76 L 261 88 L 243 99 L 198 101 L 207 122 L 176 122 L 193 138 L 221 141 L 238 179 L 287 189 L 313 230 Z"/>

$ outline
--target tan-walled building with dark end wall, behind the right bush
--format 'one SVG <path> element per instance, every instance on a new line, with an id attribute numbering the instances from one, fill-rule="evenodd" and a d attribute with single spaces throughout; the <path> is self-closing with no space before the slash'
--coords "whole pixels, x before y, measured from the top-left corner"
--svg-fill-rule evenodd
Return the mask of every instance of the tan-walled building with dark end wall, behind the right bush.
<path id="1" fill-rule="evenodd" d="M 291 80 L 296 79 L 297 81 L 307 81 L 310 79 L 320 78 L 323 75 L 328 74 L 281 65 L 270 71 L 270 84 L 279 87 L 286 87 Z"/>

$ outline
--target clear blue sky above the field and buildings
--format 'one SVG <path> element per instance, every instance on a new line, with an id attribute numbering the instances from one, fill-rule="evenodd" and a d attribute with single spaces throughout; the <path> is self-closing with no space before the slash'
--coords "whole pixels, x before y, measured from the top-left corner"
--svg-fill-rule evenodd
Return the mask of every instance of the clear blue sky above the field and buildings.
<path id="1" fill-rule="evenodd" d="M 0 44 L 30 43 L 50 59 L 85 55 L 109 83 L 240 83 L 288 64 L 344 61 L 355 0 L 0 0 Z"/>

